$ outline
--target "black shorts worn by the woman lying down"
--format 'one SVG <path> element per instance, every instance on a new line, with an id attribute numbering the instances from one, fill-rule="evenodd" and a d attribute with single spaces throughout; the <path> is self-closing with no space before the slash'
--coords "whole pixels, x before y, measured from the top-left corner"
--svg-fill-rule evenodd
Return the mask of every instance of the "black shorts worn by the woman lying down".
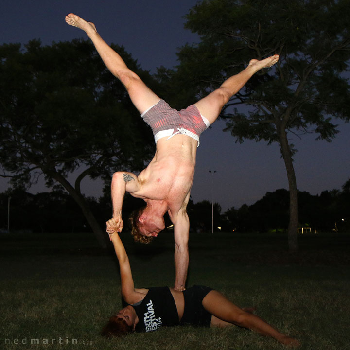
<path id="1" fill-rule="evenodd" d="M 202 300 L 211 290 L 210 287 L 194 285 L 183 291 L 185 309 L 180 326 L 190 324 L 192 326 L 210 327 L 211 314 L 204 309 Z"/>

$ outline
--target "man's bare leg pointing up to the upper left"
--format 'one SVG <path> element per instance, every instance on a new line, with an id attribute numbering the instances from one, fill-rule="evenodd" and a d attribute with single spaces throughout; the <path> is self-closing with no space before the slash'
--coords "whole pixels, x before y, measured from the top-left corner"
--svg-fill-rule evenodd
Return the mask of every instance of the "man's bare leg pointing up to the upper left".
<path id="1" fill-rule="evenodd" d="M 93 23 L 74 14 L 67 15 L 66 22 L 73 27 L 82 29 L 88 35 L 108 70 L 126 88 L 131 101 L 140 114 L 159 102 L 160 98 L 142 82 L 136 73 L 127 68 L 122 57 L 102 39 Z"/>

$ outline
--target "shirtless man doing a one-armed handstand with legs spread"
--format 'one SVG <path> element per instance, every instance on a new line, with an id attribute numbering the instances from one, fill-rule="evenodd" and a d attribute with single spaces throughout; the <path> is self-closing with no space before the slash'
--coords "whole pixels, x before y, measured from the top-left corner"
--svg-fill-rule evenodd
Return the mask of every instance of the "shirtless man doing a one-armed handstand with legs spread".
<path id="1" fill-rule="evenodd" d="M 252 59 L 245 70 L 228 78 L 220 88 L 178 112 L 127 68 L 121 56 L 97 33 L 93 23 L 74 14 L 67 15 L 66 22 L 86 32 L 108 70 L 122 82 L 132 103 L 151 126 L 156 140 L 156 154 L 138 176 L 129 172 L 113 174 L 111 222 L 114 223 L 114 228 L 107 229 L 107 232 L 112 234 L 123 229 L 122 205 L 125 192 L 146 202 L 146 206 L 132 219 L 134 239 L 147 241 L 157 237 L 165 228 L 163 216 L 168 212 L 174 224 L 174 288 L 183 290 L 189 263 L 190 222 L 186 206 L 193 183 L 199 135 L 215 122 L 222 107 L 243 88 L 254 73 L 274 65 L 279 56 L 274 55 L 261 61 Z"/>

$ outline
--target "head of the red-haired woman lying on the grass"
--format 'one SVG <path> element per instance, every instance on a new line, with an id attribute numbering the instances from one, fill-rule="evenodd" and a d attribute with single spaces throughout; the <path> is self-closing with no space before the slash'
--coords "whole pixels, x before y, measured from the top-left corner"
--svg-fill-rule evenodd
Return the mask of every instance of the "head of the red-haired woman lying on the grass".
<path id="1" fill-rule="evenodd" d="M 121 337 L 135 330 L 139 318 L 132 306 L 127 306 L 111 316 L 102 329 L 102 335 L 107 338 Z"/>

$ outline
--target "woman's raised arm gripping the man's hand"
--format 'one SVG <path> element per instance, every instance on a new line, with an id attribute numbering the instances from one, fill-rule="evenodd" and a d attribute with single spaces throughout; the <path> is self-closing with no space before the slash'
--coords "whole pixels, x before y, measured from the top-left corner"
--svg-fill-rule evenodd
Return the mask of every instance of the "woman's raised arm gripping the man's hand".
<path id="1" fill-rule="evenodd" d="M 107 232 L 108 227 L 111 229 L 111 227 L 118 225 L 113 218 L 108 220 L 106 224 Z M 129 258 L 126 254 L 123 242 L 120 239 L 118 232 L 109 233 L 109 237 L 113 243 L 114 251 L 119 261 L 122 297 L 128 304 L 135 304 L 142 300 L 145 295 L 135 290 Z"/>

